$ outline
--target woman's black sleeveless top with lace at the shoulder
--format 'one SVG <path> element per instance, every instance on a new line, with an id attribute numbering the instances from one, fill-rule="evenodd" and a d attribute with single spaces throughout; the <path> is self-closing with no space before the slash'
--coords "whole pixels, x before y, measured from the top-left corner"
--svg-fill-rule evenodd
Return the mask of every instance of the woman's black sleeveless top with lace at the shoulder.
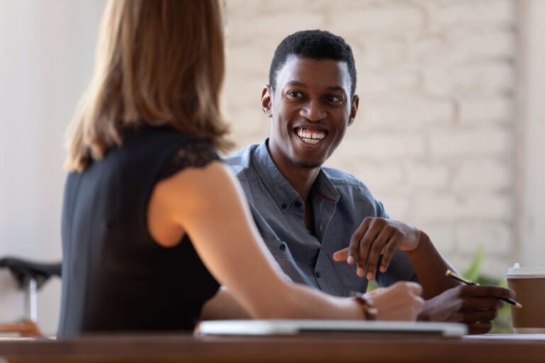
<path id="1" fill-rule="evenodd" d="M 204 140 L 146 126 L 124 133 L 123 146 L 104 160 L 68 175 L 60 336 L 194 328 L 219 284 L 187 235 L 171 248 L 154 242 L 147 208 L 158 181 L 214 160 Z"/>

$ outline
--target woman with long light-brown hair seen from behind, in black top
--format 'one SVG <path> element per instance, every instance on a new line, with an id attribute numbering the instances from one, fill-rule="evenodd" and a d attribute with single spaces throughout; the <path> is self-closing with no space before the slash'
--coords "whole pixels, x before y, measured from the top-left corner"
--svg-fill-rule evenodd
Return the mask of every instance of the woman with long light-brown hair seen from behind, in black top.
<path id="1" fill-rule="evenodd" d="M 338 298 L 277 274 L 216 149 L 217 0 L 111 0 L 71 128 L 59 334 L 192 330 L 220 284 L 253 318 L 412 320 L 420 286 Z"/>

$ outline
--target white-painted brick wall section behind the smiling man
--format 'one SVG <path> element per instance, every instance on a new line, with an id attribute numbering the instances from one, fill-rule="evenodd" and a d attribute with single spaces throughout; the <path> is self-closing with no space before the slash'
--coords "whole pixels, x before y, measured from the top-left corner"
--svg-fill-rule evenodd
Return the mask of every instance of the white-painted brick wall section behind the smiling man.
<path id="1" fill-rule="evenodd" d="M 360 110 L 330 166 L 356 174 L 393 218 L 426 230 L 458 267 L 512 263 L 514 0 L 228 0 L 226 102 L 238 146 L 268 134 L 260 92 L 297 30 L 343 36 Z"/>

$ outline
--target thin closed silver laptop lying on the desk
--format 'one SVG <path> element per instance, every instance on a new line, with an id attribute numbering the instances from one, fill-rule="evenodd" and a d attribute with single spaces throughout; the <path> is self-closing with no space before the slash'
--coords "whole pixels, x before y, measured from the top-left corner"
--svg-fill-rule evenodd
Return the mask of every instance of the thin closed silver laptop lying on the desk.
<path id="1" fill-rule="evenodd" d="M 207 320 L 197 335 L 301 335 L 305 333 L 359 333 L 373 335 L 434 335 L 461 337 L 468 328 L 460 323 L 365 320 Z"/>

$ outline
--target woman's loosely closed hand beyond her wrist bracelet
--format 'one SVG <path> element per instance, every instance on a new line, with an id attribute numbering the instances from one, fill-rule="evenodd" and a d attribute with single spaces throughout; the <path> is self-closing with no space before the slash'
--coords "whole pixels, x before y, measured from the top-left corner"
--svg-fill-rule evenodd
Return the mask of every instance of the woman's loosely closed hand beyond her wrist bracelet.
<path id="1" fill-rule="evenodd" d="M 377 320 L 416 320 L 424 308 L 422 286 L 400 281 L 366 294 L 378 309 Z"/>

